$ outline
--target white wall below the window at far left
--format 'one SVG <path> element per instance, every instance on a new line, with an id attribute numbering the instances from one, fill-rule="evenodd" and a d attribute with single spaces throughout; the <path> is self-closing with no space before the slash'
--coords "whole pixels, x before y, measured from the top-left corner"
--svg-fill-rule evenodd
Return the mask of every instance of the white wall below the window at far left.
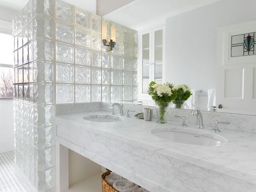
<path id="1" fill-rule="evenodd" d="M 0 101 L 0 153 L 14 150 L 13 101 Z"/>

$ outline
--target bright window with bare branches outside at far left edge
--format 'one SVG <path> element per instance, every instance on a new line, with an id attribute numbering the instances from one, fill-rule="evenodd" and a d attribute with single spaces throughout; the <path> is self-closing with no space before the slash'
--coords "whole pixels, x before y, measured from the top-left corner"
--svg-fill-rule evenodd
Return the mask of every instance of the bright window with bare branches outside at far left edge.
<path id="1" fill-rule="evenodd" d="M 13 37 L 0 33 L 0 98 L 13 98 Z"/>

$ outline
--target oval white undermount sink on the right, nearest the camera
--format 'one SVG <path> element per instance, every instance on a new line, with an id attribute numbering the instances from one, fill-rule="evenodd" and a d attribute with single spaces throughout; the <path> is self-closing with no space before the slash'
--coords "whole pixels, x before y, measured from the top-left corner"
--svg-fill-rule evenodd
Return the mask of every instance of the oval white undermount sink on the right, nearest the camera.
<path id="1" fill-rule="evenodd" d="M 189 128 L 171 128 L 166 130 L 153 130 L 152 134 L 172 142 L 191 145 L 220 146 L 227 142 L 226 138 L 214 133 Z"/>

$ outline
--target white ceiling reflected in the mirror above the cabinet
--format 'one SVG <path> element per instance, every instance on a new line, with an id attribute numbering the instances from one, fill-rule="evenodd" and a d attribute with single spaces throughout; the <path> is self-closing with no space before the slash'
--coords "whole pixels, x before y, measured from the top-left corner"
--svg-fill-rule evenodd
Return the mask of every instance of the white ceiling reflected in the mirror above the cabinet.
<path id="1" fill-rule="evenodd" d="M 135 0 L 104 17 L 134 30 L 163 24 L 166 18 L 219 0 Z"/>

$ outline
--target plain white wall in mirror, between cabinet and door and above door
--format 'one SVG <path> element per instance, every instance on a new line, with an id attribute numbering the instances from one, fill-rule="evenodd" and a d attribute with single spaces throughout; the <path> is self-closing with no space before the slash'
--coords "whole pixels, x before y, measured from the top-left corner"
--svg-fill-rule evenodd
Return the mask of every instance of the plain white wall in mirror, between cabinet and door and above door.
<path id="1" fill-rule="evenodd" d="M 166 81 L 216 87 L 217 28 L 256 20 L 256 0 L 221 0 L 166 20 Z"/>

